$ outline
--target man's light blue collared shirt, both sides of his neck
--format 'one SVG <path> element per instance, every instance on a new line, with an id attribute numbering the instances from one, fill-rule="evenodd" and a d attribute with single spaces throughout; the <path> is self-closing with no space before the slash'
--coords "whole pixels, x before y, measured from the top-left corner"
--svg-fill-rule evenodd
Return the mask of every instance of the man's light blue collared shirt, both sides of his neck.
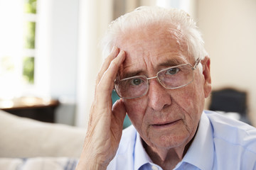
<path id="1" fill-rule="evenodd" d="M 134 126 L 125 129 L 107 169 L 159 169 L 142 146 Z M 256 128 L 219 113 L 204 111 L 188 152 L 175 169 L 256 169 Z"/>

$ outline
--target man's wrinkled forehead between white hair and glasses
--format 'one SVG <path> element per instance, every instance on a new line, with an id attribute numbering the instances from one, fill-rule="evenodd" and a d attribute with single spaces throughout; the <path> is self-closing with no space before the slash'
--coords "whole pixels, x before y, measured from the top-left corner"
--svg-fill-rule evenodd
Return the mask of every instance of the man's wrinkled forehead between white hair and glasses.
<path id="1" fill-rule="evenodd" d="M 157 72 L 162 67 L 189 60 L 183 35 L 174 27 L 151 25 L 143 30 L 131 29 L 119 39 L 117 46 L 127 54 L 119 73 L 132 74 L 128 77 L 137 72 Z"/>

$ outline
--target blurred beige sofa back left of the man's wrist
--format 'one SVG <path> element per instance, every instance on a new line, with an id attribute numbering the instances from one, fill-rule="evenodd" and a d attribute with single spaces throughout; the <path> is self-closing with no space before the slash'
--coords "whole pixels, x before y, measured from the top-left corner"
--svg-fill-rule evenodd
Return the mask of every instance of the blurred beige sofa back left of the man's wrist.
<path id="1" fill-rule="evenodd" d="M 0 111 L 0 157 L 80 157 L 86 130 Z"/>

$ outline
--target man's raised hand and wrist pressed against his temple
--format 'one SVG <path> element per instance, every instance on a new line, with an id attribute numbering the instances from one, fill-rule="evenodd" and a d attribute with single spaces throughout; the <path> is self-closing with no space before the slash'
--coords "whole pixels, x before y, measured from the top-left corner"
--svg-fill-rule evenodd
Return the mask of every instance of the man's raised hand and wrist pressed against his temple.
<path id="1" fill-rule="evenodd" d="M 125 52 L 114 47 L 97 75 L 95 98 L 78 169 L 106 169 L 114 158 L 122 136 L 126 110 L 122 99 L 112 108 L 112 89 Z"/>

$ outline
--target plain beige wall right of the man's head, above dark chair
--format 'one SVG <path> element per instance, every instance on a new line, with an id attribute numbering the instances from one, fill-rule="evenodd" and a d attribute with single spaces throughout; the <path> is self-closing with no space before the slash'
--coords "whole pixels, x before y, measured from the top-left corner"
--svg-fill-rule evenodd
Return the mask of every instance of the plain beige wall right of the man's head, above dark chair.
<path id="1" fill-rule="evenodd" d="M 247 91 L 256 125 L 256 1 L 198 0 L 198 26 L 211 59 L 213 89 Z"/>

